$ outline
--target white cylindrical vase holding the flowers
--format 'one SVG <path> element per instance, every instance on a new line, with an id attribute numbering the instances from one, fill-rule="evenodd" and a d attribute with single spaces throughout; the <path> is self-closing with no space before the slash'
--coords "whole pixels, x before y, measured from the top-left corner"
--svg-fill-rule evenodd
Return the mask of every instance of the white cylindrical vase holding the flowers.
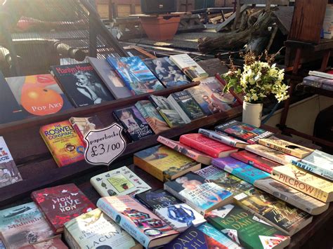
<path id="1" fill-rule="evenodd" d="M 261 114 L 263 112 L 263 104 L 251 104 L 243 102 L 242 122 L 252 126 L 261 126 Z"/>

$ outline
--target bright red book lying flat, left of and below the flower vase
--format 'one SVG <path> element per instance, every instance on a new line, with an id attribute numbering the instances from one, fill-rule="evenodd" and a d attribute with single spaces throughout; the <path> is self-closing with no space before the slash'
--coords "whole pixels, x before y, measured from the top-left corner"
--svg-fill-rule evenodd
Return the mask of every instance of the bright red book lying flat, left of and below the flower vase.
<path id="1" fill-rule="evenodd" d="M 214 158 L 226 157 L 238 150 L 197 133 L 181 135 L 179 142 Z"/>

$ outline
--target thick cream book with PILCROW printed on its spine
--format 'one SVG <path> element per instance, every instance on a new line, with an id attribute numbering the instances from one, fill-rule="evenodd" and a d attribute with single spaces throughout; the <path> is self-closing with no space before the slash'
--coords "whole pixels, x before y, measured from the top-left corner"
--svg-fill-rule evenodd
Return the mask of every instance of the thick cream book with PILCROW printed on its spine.
<path id="1" fill-rule="evenodd" d="M 333 201 L 332 182 L 292 164 L 275 167 L 271 177 L 322 202 Z"/>

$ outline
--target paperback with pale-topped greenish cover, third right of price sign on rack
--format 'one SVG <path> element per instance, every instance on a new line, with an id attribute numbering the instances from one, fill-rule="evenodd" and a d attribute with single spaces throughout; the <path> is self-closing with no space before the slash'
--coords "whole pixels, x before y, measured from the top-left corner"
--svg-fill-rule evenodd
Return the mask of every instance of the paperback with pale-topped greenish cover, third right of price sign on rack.
<path id="1" fill-rule="evenodd" d="M 171 128 L 185 124 L 181 118 L 181 115 L 176 112 L 174 107 L 171 107 L 166 97 L 150 95 L 149 98 L 152 102 L 152 105 L 155 106 L 159 114 L 161 114 L 163 119 Z"/>

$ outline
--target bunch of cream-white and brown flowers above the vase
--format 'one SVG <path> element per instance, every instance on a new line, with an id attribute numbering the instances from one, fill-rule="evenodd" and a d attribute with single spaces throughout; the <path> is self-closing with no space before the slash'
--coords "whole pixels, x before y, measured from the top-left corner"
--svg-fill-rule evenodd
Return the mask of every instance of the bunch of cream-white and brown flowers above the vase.
<path id="1" fill-rule="evenodd" d="M 279 52 L 278 52 L 279 53 Z M 268 55 L 265 51 L 266 62 L 262 62 L 262 54 L 256 56 L 252 51 L 241 54 L 244 58 L 243 70 L 237 69 L 230 59 L 230 71 L 221 77 L 226 81 L 225 91 L 233 88 L 235 93 L 242 93 L 244 101 L 252 104 L 262 103 L 270 94 L 275 95 L 276 100 L 287 100 L 289 86 L 283 83 L 284 69 L 279 69 L 273 64 L 274 55 Z"/>

